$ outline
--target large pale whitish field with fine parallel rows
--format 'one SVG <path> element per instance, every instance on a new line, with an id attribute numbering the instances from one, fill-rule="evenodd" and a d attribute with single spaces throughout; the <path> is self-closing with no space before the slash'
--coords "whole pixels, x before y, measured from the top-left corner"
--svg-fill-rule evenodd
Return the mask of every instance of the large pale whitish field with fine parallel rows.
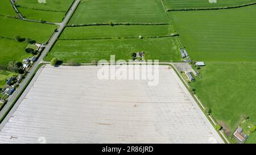
<path id="1" fill-rule="evenodd" d="M 98 70 L 40 70 L 1 124 L 0 143 L 223 143 L 168 66 L 160 66 L 156 86 L 142 79 L 100 80 Z"/>

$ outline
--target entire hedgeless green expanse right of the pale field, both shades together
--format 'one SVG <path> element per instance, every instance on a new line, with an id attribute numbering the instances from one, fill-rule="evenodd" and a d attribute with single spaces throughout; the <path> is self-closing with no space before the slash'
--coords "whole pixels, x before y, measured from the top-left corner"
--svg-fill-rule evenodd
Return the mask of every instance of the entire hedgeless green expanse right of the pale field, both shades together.
<path id="1" fill-rule="evenodd" d="M 256 123 L 255 13 L 255 5 L 169 13 L 191 58 L 206 63 L 192 87 L 229 133 L 243 115 Z"/>

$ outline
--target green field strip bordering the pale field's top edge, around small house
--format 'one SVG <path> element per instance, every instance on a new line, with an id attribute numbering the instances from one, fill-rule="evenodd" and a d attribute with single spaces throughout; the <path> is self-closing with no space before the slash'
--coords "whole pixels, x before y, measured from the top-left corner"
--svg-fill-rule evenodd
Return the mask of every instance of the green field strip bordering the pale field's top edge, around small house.
<path id="1" fill-rule="evenodd" d="M 176 37 L 154 39 L 100 39 L 100 40 L 59 40 L 47 55 L 50 61 L 53 57 L 64 62 L 91 62 L 92 60 L 115 59 L 129 60 L 131 52 L 143 51 L 147 60 L 178 61 Z"/>

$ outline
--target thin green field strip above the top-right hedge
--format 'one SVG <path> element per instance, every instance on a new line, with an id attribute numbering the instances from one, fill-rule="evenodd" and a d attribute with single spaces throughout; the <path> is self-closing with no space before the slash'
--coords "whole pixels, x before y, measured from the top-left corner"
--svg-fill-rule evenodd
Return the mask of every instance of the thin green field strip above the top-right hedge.
<path id="1" fill-rule="evenodd" d="M 256 2 L 255 0 L 216 0 L 216 3 L 210 3 L 213 0 L 162 0 L 165 8 L 168 9 L 196 9 L 196 8 L 214 8 L 225 6 L 237 6 L 246 3 Z M 210 1 L 210 2 L 209 2 Z"/>

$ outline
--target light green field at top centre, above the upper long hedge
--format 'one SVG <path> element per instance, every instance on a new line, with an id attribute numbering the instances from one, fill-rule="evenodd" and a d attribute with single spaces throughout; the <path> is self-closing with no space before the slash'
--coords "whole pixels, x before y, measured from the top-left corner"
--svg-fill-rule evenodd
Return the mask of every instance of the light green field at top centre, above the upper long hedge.
<path id="1" fill-rule="evenodd" d="M 70 24 L 168 23 L 160 0 L 81 1 Z"/>

